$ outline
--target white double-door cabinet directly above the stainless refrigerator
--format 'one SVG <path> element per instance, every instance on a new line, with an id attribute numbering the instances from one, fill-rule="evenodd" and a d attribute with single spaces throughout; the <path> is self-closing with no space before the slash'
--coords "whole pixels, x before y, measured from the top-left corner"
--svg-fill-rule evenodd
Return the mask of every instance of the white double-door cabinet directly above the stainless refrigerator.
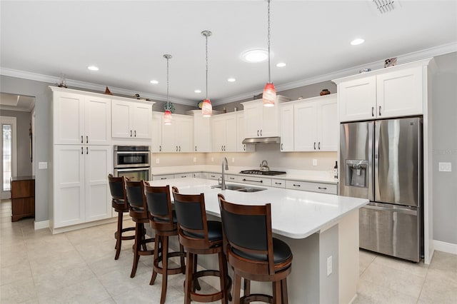
<path id="1" fill-rule="evenodd" d="M 423 114 L 430 59 L 334 80 L 340 121 Z"/>

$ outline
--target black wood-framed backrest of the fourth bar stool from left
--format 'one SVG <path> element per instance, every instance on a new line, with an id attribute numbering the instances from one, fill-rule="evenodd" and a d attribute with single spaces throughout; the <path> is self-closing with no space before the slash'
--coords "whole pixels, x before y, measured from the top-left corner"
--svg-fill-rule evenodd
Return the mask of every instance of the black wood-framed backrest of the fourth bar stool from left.
<path id="1" fill-rule="evenodd" d="M 209 248 L 204 193 L 181 194 L 176 187 L 172 192 L 179 237 L 191 241 L 194 248 Z"/>

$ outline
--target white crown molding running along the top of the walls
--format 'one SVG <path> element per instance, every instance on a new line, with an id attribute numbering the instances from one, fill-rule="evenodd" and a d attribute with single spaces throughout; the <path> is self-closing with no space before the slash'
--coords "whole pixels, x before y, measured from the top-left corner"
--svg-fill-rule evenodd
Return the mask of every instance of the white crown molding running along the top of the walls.
<path id="1" fill-rule="evenodd" d="M 410 61 L 426 59 L 428 57 L 453 53 L 455 51 L 457 51 L 457 41 L 450 43 L 450 44 L 443 44 L 441 46 L 434 46 L 429 49 L 423 49 L 421 51 L 415 51 L 415 52 L 408 53 L 408 54 L 398 55 L 397 60 L 398 60 L 398 62 L 401 62 L 403 64 L 403 63 L 407 63 Z M 358 72 L 361 69 L 366 69 L 367 67 L 370 67 L 370 69 L 372 69 L 372 70 L 382 69 L 383 60 L 384 59 L 380 59 L 379 61 L 373 61 L 368 64 L 361 64 L 358 66 L 353 66 L 349 69 L 343 69 L 343 70 L 335 71 L 335 72 L 328 73 L 328 74 L 322 74 L 322 75 L 311 77 L 311 78 L 304 78 L 304 79 L 301 79 L 298 81 L 283 83 L 283 84 L 276 86 L 276 91 L 278 93 L 281 93 L 281 91 L 286 91 L 291 88 L 298 88 L 300 86 L 308 86 L 313 83 L 331 81 L 331 79 L 351 76 L 354 74 L 358 74 Z M 6 69 L 6 68 L 1 68 L 1 67 L 0 67 L 0 75 L 17 77 L 17 78 L 25 78 L 25 79 L 30 79 L 30 80 L 34 80 L 34 81 L 42 81 L 42 82 L 46 82 L 46 83 L 58 83 L 60 80 L 59 77 L 55 77 L 55 76 L 48 76 L 48 75 L 43 75 L 43 74 L 36 74 L 36 73 L 18 71 L 18 70 L 14 70 L 14 69 Z M 67 79 L 66 83 L 68 86 L 71 86 L 74 88 L 86 88 L 86 89 L 93 90 L 93 91 L 102 91 L 103 92 L 103 91 L 105 91 L 105 88 L 106 88 L 105 85 L 100 85 L 100 84 L 96 84 L 96 83 L 88 83 L 88 82 L 84 82 L 84 81 L 76 81 L 76 80 L 71 80 L 71 79 Z M 110 87 L 109 90 L 111 91 L 111 93 L 116 93 L 116 94 L 124 95 L 124 96 L 134 96 L 134 93 L 139 93 L 141 97 L 150 98 L 153 101 L 166 101 L 166 96 L 161 96 L 161 95 L 147 93 L 147 92 L 134 92 L 133 93 L 133 91 L 126 90 L 125 88 L 116 88 L 116 87 Z M 258 95 L 258 93 L 260 91 L 261 90 L 250 91 L 247 93 L 238 94 L 236 96 L 231 96 L 228 98 L 221 98 L 217 101 L 212 101 L 212 103 L 214 106 L 220 106 L 225 103 L 241 101 L 243 99 L 252 98 L 253 96 Z M 195 106 L 195 101 L 189 101 L 189 100 L 181 99 L 181 98 L 170 97 L 169 101 L 174 102 L 174 103 L 183 104 L 186 106 Z"/>

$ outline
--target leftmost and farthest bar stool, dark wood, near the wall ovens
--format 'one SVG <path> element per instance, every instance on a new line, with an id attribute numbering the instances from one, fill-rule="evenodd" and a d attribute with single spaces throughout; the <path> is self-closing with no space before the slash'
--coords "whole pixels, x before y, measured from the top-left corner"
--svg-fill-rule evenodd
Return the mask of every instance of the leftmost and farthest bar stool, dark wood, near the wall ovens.
<path id="1" fill-rule="evenodd" d="M 127 202 L 126 196 L 126 180 L 124 176 L 114 177 L 112 174 L 109 174 L 109 190 L 111 191 L 111 206 L 114 208 L 114 211 L 117 212 L 117 230 L 114 233 L 114 238 L 116 238 L 116 255 L 114 260 L 119 259 L 119 254 L 121 253 L 121 243 L 123 240 L 133 240 L 135 235 L 122 235 L 127 231 L 134 231 L 134 227 L 122 228 L 123 216 L 124 213 L 129 212 L 129 203 Z"/>

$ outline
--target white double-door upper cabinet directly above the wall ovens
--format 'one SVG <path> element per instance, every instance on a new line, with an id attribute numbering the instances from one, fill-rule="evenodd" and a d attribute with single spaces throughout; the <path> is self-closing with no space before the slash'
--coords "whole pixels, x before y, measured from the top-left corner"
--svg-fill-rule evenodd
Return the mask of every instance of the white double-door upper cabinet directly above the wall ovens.
<path id="1" fill-rule="evenodd" d="M 112 136 L 151 139 L 152 103 L 112 100 Z"/>

